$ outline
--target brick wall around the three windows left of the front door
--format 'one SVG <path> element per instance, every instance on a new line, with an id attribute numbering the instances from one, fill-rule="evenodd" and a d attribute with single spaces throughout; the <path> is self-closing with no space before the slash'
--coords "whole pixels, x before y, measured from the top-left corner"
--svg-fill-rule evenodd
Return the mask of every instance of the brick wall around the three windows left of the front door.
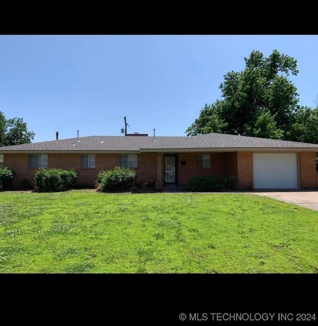
<path id="1" fill-rule="evenodd" d="M 157 153 L 138 154 L 137 182 L 154 182 L 157 178 Z M 19 180 L 27 178 L 30 182 L 34 179 L 36 169 L 30 169 L 28 154 L 4 154 L 4 165 L 14 169 L 17 174 L 13 179 L 12 187 L 19 185 Z M 96 167 L 91 169 L 81 168 L 81 154 L 49 154 L 48 168 L 76 169 L 79 171 L 77 183 L 83 186 L 93 186 L 100 170 L 111 169 L 119 165 L 119 154 L 96 154 Z"/>

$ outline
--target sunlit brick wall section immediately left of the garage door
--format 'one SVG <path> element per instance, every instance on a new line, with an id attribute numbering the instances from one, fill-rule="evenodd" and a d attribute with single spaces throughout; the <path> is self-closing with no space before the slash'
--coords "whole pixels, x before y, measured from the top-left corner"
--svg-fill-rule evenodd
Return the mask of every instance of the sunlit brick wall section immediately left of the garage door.
<path id="1" fill-rule="evenodd" d="M 238 152 L 238 178 L 239 188 L 253 188 L 253 153 Z"/>

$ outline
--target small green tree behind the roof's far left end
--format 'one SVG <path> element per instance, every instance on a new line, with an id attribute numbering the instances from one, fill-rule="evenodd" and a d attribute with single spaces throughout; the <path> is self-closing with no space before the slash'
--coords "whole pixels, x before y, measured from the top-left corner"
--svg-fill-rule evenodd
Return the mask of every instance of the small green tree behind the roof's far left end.
<path id="1" fill-rule="evenodd" d="M 20 144 L 29 144 L 35 133 L 27 129 L 23 118 L 5 119 L 0 111 L 0 147 Z"/>

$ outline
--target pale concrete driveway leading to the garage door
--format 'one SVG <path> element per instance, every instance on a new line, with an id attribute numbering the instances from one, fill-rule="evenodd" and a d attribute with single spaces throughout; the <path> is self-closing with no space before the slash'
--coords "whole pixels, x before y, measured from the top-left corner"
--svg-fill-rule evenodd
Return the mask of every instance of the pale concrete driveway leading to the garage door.
<path id="1" fill-rule="evenodd" d="M 318 211 L 318 191 L 253 191 L 251 193 L 254 195 L 266 196 L 284 201 L 286 203 L 291 203 Z"/>

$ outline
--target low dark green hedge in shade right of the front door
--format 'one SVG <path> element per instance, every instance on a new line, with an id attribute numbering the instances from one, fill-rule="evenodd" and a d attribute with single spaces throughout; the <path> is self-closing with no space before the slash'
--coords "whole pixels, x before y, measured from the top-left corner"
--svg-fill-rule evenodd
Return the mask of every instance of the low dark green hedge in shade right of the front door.
<path id="1" fill-rule="evenodd" d="M 190 180 L 189 188 L 195 192 L 235 190 L 238 189 L 238 178 L 236 176 L 196 176 Z"/>

